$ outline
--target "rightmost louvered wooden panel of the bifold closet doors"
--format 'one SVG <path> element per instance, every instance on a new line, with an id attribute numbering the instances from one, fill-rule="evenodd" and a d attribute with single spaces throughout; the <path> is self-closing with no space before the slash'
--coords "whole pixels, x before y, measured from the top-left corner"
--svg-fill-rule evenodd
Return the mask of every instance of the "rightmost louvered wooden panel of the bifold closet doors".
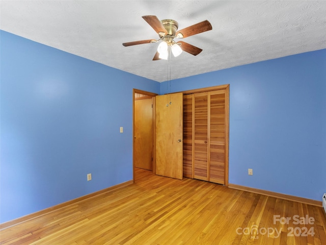
<path id="1" fill-rule="evenodd" d="M 209 181 L 225 184 L 226 94 L 225 89 L 209 92 Z"/>

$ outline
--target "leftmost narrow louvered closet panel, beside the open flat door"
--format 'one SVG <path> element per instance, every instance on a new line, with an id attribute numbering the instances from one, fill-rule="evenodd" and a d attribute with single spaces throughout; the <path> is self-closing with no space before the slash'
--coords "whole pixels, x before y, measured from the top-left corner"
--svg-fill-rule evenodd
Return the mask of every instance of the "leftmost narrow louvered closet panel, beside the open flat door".
<path id="1" fill-rule="evenodd" d="M 183 177 L 193 178 L 193 94 L 183 95 Z"/>

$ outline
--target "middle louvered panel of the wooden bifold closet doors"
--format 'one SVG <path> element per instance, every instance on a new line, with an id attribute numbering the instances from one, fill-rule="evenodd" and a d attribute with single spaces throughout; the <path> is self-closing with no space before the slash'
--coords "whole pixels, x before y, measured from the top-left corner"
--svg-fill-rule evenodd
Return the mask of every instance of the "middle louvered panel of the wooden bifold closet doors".
<path id="1" fill-rule="evenodd" d="M 194 178 L 208 180 L 208 92 L 194 94 Z"/>

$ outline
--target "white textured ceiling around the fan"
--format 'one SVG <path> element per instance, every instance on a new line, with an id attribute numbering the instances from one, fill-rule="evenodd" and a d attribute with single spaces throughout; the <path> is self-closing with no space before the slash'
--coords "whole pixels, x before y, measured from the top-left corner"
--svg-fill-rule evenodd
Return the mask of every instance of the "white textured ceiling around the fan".
<path id="1" fill-rule="evenodd" d="M 0 8 L 4 31 L 158 82 L 326 48 L 326 1 L 1 1 Z M 213 29 L 182 39 L 203 49 L 198 56 L 152 61 L 158 43 L 122 45 L 158 39 L 143 15 L 174 19 L 179 30 L 207 19 Z"/>

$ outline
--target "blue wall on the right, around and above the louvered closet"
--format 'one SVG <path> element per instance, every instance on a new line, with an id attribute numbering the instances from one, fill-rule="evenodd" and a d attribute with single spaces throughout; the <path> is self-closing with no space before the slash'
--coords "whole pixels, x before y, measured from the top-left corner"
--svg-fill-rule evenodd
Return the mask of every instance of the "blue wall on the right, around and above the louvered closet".
<path id="1" fill-rule="evenodd" d="M 326 50 L 172 80 L 160 91 L 222 84 L 230 84 L 229 183 L 321 201 Z"/>

